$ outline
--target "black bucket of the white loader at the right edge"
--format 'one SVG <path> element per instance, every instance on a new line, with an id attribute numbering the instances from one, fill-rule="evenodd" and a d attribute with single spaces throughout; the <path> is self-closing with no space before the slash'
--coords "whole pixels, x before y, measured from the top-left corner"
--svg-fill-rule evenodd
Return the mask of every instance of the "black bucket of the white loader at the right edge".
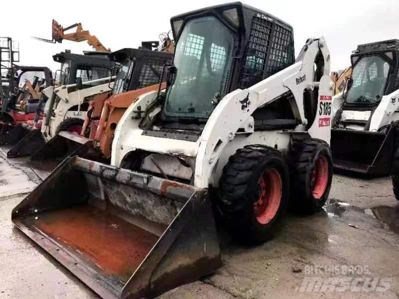
<path id="1" fill-rule="evenodd" d="M 334 168 L 365 175 L 389 175 L 394 150 L 392 129 L 387 133 L 332 129 Z"/>

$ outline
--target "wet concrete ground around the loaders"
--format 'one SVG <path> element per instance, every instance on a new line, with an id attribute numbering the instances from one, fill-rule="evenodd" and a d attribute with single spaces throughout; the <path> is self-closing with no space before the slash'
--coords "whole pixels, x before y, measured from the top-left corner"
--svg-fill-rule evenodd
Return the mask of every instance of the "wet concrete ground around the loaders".
<path id="1" fill-rule="evenodd" d="M 0 299 L 94 299 L 90 289 L 17 230 L 12 208 L 45 173 L 6 160 L 0 151 Z M 330 202 L 312 216 L 288 215 L 278 236 L 256 247 L 239 246 L 221 233 L 223 267 L 172 290 L 162 299 L 398 298 L 399 204 L 389 178 L 335 175 Z M 348 273 L 349 267 L 356 273 Z M 335 267 L 335 268 L 334 268 Z M 351 290 L 301 292 L 305 279 L 359 279 Z M 362 278 L 371 278 L 363 288 Z M 373 291 L 375 284 L 388 287 Z M 306 285 L 305 285 L 306 286 Z M 327 283 L 328 286 L 328 283 Z M 360 286 L 359 289 L 356 289 Z M 319 286 L 320 287 L 320 286 Z M 354 292 L 359 291 L 359 292 Z"/>

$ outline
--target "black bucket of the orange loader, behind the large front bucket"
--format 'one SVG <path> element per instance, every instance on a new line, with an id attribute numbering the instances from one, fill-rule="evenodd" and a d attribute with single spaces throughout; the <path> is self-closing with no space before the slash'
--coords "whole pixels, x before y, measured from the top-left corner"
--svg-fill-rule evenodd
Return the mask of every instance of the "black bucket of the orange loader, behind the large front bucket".
<path id="1" fill-rule="evenodd" d="M 93 140 L 62 131 L 32 153 L 30 164 L 34 166 L 40 163 L 43 170 L 52 170 L 69 155 L 96 159 L 95 156 L 89 154 L 93 150 Z"/>

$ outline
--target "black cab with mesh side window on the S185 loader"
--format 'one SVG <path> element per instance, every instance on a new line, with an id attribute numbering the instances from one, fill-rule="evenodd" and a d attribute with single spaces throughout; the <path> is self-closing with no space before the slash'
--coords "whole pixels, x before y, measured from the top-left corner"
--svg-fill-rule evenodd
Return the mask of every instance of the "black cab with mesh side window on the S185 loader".
<path id="1" fill-rule="evenodd" d="M 241 2 L 181 14 L 171 25 L 176 47 L 161 128 L 201 130 L 226 94 L 294 63 L 292 27 Z"/>

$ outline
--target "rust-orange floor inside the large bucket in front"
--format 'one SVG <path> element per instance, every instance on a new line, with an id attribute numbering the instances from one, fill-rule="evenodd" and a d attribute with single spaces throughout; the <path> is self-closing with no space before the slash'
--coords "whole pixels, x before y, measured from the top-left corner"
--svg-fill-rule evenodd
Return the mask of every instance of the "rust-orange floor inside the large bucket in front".
<path id="1" fill-rule="evenodd" d="M 31 225 L 126 283 L 158 237 L 89 206 L 43 213 Z"/>

